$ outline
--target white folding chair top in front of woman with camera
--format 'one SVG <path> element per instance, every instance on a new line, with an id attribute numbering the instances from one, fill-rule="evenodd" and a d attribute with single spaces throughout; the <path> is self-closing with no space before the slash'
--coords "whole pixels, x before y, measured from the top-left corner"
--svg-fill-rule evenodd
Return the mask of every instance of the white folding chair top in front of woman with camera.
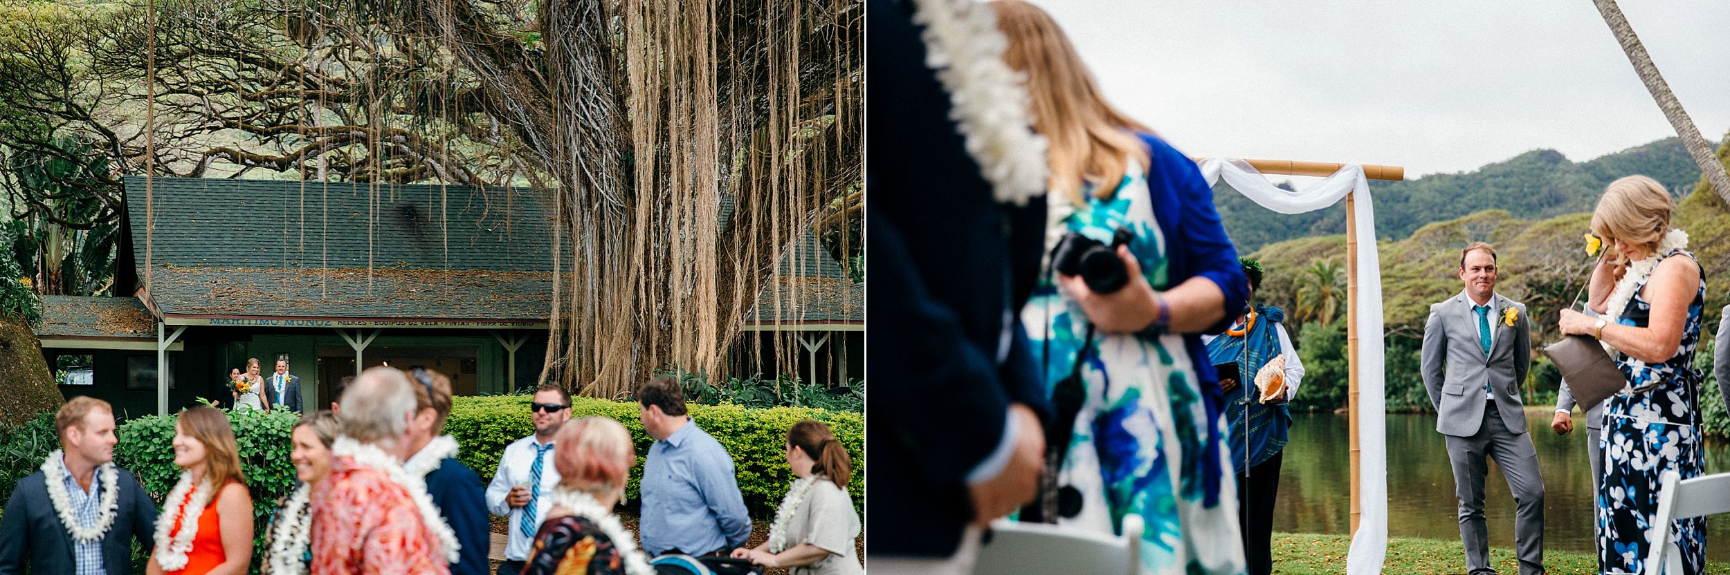
<path id="1" fill-rule="evenodd" d="M 1111 537 L 1048 523 L 991 523 L 991 542 L 979 546 L 976 575 L 998 573 L 1140 573 L 1140 515 L 1123 516 L 1123 535 Z"/>

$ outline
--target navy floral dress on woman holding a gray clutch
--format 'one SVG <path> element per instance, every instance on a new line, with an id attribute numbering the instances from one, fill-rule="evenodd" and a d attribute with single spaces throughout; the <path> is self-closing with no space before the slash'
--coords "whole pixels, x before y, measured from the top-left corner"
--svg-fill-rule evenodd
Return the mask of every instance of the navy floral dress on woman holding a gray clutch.
<path id="1" fill-rule="evenodd" d="M 1694 254 L 1673 250 L 1664 254 Z M 1619 325 L 1644 328 L 1652 306 L 1642 297 L 1645 285 L 1635 288 Z M 1650 553 L 1652 520 L 1657 516 L 1657 490 L 1666 471 L 1682 478 L 1699 477 L 1706 461 L 1701 451 L 1701 373 L 1694 370 L 1694 347 L 1701 342 L 1701 313 L 1706 306 L 1706 278 L 1688 304 L 1688 319 L 1682 330 L 1682 345 L 1675 357 L 1664 363 L 1644 363 L 1614 354 L 1618 368 L 1628 378 L 1630 389 L 1652 385 L 1645 390 L 1623 390 L 1604 409 L 1604 435 L 1599 449 L 1604 454 L 1604 482 L 1597 497 L 1599 572 L 1642 573 Z M 1669 540 L 1682 549 L 1683 573 L 1704 573 L 1706 520 L 1675 521 Z M 1678 573 L 1669 573 L 1678 575 Z"/>

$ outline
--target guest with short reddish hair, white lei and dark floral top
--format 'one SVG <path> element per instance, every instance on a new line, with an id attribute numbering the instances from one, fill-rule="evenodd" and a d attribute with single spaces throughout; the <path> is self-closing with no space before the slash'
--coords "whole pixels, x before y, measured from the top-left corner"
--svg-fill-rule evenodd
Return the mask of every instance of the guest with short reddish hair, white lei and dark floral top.
<path id="1" fill-rule="evenodd" d="M 554 466 L 559 487 L 547 520 L 535 532 L 524 575 L 652 573 L 649 558 L 612 515 L 637 452 L 625 425 L 609 418 L 571 420 L 559 427 Z"/>

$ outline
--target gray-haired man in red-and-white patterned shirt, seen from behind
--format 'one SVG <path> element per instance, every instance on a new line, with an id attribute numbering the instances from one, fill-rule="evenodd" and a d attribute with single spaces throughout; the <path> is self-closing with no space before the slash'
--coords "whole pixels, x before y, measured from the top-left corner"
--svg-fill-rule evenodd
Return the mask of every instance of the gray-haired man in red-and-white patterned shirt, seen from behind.
<path id="1" fill-rule="evenodd" d="M 415 414 L 413 385 L 381 366 L 343 392 L 343 437 L 330 447 L 330 475 L 311 492 L 311 575 L 450 573 L 455 535 L 398 456 Z"/>

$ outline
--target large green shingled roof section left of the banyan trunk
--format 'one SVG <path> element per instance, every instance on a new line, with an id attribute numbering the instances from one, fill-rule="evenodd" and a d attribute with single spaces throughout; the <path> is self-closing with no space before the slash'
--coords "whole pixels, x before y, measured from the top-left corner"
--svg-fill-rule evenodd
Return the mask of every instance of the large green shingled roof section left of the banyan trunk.
<path id="1" fill-rule="evenodd" d="M 552 313 L 543 190 L 126 178 L 164 316 L 529 319 Z M 149 240 L 149 242 L 147 242 Z M 370 264 L 370 271 L 368 271 Z"/>

